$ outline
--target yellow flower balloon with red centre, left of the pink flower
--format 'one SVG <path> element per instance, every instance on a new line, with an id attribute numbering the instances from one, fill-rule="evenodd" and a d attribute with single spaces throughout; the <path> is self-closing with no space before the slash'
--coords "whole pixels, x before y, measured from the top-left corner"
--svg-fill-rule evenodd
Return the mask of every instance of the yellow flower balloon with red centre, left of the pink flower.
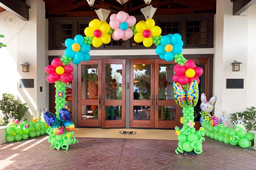
<path id="1" fill-rule="evenodd" d="M 110 31 L 110 26 L 106 21 L 101 21 L 99 19 L 93 19 L 89 23 L 89 27 L 85 28 L 85 35 L 88 37 L 93 37 L 92 45 L 93 47 L 100 47 L 103 43 L 109 44 L 111 41 L 111 36 L 107 33 Z"/>

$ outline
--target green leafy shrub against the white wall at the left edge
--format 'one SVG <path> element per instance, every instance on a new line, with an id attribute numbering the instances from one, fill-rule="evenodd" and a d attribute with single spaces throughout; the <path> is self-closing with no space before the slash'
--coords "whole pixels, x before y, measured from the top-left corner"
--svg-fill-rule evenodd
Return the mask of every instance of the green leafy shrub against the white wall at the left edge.
<path id="1" fill-rule="evenodd" d="M 2 95 L 2 99 L 0 100 L 0 110 L 4 114 L 4 122 L 2 123 L 5 126 L 9 123 L 9 117 L 7 114 L 10 112 L 13 112 L 12 116 L 14 119 L 21 121 L 25 113 L 28 111 L 28 103 L 19 103 L 17 100 L 15 100 L 14 95 L 4 93 Z"/>

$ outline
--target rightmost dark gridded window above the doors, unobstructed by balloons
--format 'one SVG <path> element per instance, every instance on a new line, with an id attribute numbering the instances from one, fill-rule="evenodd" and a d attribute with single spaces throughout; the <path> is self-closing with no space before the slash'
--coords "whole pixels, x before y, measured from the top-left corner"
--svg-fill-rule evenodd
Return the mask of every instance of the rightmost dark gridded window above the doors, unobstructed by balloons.
<path id="1" fill-rule="evenodd" d="M 207 44 L 206 21 L 187 21 L 186 41 L 188 45 Z"/>

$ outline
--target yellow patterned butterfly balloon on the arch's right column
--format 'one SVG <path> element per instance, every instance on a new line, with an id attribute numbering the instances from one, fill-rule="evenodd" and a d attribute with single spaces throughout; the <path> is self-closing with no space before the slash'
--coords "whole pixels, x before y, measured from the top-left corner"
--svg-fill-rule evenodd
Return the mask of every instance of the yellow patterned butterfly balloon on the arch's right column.
<path id="1" fill-rule="evenodd" d="M 185 107 L 186 101 L 189 106 L 196 106 L 198 103 L 198 83 L 196 80 L 192 81 L 185 90 L 178 82 L 173 83 L 174 99 L 179 107 Z"/>

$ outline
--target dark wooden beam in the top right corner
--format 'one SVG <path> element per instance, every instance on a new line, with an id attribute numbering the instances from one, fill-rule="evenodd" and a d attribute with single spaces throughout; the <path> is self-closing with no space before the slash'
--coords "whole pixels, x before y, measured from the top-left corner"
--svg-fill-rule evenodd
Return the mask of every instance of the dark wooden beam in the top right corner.
<path id="1" fill-rule="evenodd" d="M 233 15 L 240 15 L 254 3 L 256 0 L 233 0 Z"/>

